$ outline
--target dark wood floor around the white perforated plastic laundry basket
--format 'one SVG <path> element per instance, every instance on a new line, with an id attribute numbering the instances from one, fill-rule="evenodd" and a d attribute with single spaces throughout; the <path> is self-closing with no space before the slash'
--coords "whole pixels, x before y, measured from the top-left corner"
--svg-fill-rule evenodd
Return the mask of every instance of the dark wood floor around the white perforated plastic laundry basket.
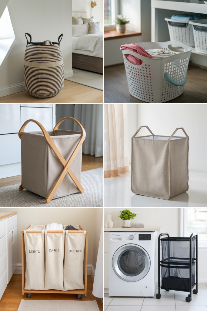
<path id="1" fill-rule="evenodd" d="M 167 103 L 206 103 L 207 70 L 188 66 L 187 82 L 184 92 Z M 145 103 L 129 93 L 125 67 L 123 65 L 104 69 L 104 102 L 105 103 Z"/>

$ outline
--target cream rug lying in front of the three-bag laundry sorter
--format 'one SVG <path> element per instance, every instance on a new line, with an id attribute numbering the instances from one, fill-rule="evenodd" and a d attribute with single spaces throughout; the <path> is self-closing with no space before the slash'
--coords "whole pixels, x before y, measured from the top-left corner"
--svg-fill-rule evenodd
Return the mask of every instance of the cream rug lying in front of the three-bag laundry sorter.
<path id="1" fill-rule="evenodd" d="M 17 311 L 99 311 L 96 300 L 24 300 Z"/>

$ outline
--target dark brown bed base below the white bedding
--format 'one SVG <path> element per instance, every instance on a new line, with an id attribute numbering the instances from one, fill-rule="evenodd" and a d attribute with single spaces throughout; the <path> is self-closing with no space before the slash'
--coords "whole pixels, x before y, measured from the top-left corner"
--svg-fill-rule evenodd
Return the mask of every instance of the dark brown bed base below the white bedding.
<path id="1" fill-rule="evenodd" d="M 103 73 L 103 58 L 72 53 L 72 66 L 74 68 Z"/>

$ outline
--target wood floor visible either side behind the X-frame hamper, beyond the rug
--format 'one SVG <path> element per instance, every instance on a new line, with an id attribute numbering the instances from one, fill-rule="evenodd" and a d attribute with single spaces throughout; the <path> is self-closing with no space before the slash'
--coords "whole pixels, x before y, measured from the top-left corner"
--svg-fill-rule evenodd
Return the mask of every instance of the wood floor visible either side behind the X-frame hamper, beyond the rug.
<path id="1" fill-rule="evenodd" d="M 98 169 L 99 167 L 103 167 L 102 156 L 95 157 L 82 154 L 82 172 L 90 169 Z M 21 183 L 21 175 L 0 179 L 0 187 L 15 185 L 16 183 Z"/>

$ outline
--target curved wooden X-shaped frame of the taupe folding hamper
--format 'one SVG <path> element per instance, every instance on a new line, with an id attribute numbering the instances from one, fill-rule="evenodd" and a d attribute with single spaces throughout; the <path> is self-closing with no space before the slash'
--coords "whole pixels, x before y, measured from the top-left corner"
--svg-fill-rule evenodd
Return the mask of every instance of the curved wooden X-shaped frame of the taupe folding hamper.
<path id="1" fill-rule="evenodd" d="M 61 164 L 63 165 L 64 169 L 62 170 L 60 176 L 58 177 L 56 183 L 54 184 L 52 190 L 50 191 L 47 199 L 46 199 L 46 203 L 49 203 L 52 200 L 52 197 L 54 196 L 54 194 L 56 193 L 57 188 L 60 186 L 63 178 L 65 177 L 65 175 L 68 173 L 71 177 L 71 179 L 73 180 L 73 182 L 75 183 L 75 185 L 77 186 L 77 188 L 79 189 L 80 193 L 84 192 L 84 189 L 81 185 L 81 183 L 79 182 L 79 180 L 77 179 L 77 177 L 75 176 L 75 174 L 73 173 L 72 169 L 70 168 L 70 165 L 72 164 L 74 158 L 76 157 L 78 151 L 80 150 L 80 147 L 82 146 L 85 137 L 86 137 L 86 132 L 83 128 L 83 126 L 74 118 L 71 117 L 65 117 L 62 118 L 57 124 L 56 126 L 53 128 L 53 136 L 56 136 L 56 130 L 58 129 L 59 125 L 66 119 L 70 119 L 75 121 L 76 123 L 78 123 L 79 127 L 82 130 L 82 135 L 81 138 L 77 144 L 77 146 L 75 147 L 72 155 L 70 156 L 70 159 L 68 160 L 68 162 L 65 161 L 64 157 L 61 155 L 60 151 L 57 149 L 56 145 L 54 144 L 54 142 L 52 141 L 50 135 L 47 133 L 47 131 L 45 130 L 45 128 L 43 128 L 42 124 L 40 124 L 38 121 L 36 120 L 27 120 L 22 127 L 19 130 L 19 137 L 21 139 L 21 132 L 24 131 L 25 126 L 29 123 L 29 122 L 34 122 L 36 123 L 42 130 L 43 135 L 48 143 L 48 145 L 52 148 L 52 150 L 54 151 L 55 155 L 57 156 L 58 160 L 61 162 Z M 22 187 L 22 184 L 19 186 L 19 190 L 22 191 L 24 188 Z"/>

